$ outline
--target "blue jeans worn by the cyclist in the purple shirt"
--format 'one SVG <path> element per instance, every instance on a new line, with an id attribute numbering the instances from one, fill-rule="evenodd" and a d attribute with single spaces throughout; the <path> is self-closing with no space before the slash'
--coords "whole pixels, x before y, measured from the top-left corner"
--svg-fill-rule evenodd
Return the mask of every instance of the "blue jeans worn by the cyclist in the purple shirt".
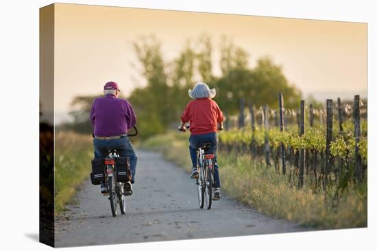
<path id="1" fill-rule="evenodd" d="M 136 174 L 136 162 L 137 157 L 132 148 L 132 144 L 128 137 L 121 137 L 117 140 L 98 140 L 97 138 L 93 139 L 93 145 L 95 149 L 95 159 L 106 157 L 106 150 L 115 149 L 121 157 L 130 158 L 130 169 L 132 172 L 132 183 L 135 181 Z"/>

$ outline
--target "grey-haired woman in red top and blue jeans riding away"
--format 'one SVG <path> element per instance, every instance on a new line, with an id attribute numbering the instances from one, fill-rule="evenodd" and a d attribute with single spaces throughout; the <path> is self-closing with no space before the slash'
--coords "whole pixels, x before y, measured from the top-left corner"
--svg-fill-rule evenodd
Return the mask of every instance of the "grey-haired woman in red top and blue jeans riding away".
<path id="1" fill-rule="evenodd" d="M 197 178 L 197 155 L 196 150 L 199 144 L 211 143 L 211 147 L 207 153 L 215 153 L 219 145 L 217 131 L 223 129 L 223 113 L 219 105 L 211 98 L 216 96 L 216 90 L 210 89 L 206 83 L 198 82 L 193 90 L 189 90 L 189 96 L 193 98 L 190 101 L 181 116 L 181 124 L 178 128 L 180 131 L 186 131 L 186 123 L 190 124 L 189 150 L 191 162 L 193 163 L 193 171 L 191 179 Z M 214 199 L 220 198 L 220 179 L 219 166 L 215 163 L 215 193 Z"/>

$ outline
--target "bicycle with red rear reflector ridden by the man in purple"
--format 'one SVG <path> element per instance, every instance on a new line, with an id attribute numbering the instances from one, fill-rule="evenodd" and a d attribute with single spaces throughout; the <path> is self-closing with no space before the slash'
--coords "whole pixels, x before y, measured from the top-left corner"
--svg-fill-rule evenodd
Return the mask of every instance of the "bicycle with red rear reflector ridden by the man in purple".
<path id="1" fill-rule="evenodd" d="M 138 134 L 136 127 L 134 127 L 135 133 L 127 134 L 128 137 L 134 137 Z M 94 137 L 94 135 L 93 135 Z M 125 214 L 125 189 L 123 182 L 117 181 L 117 158 L 119 154 L 117 153 L 116 149 L 108 149 L 105 151 L 105 168 L 104 168 L 104 183 L 105 186 L 108 187 L 108 194 L 104 194 L 104 196 L 109 196 L 108 199 L 110 200 L 110 208 L 113 217 L 116 217 L 118 214 L 118 207 L 121 209 L 121 214 Z M 130 159 L 127 158 L 127 166 L 129 166 Z M 121 174 L 121 172 L 119 172 Z M 123 172 L 122 172 L 123 174 Z M 124 172 L 124 175 L 126 173 Z"/>

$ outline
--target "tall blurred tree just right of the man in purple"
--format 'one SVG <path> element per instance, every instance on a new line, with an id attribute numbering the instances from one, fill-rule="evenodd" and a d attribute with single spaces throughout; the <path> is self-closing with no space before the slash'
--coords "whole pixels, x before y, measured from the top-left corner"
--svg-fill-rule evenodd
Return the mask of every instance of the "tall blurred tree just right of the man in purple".
<path id="1" fill-rule="evenodd" d="M 167 84 L 167 63 L 162 57 L 160 42 L 154 36 L 140 41 L 133 45 L 147 86 L 136 88 L 129 100 L 138 117 L 137 127 L 141 137 L 148 137 L 165 131 L 168 122 L 173 120 L 175 104 Z"/>

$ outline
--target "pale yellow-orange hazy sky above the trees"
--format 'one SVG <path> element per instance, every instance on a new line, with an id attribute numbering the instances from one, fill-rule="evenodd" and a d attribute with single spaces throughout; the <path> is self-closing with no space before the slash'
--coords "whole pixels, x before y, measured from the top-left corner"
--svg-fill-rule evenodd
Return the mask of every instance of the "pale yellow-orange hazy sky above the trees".
<path id="1" fill-rule="evenodd" d="M 132 67 L 132 42 L 154 34 L 167 60 L 187 38 L 208 34 L 219 75 L 222 35 L 250 54 L 250 66 L 269 55 L 282 65 L 290 83 L 306 96 L 352 98 L 367 89 L 367 24 L 175 12 L 94 5 L 56 4 L 55 109 L 69 110 L 74 96 L 98 94 L 106 81 L 117 81 L 127 96 L 143 85 Z M 327 95 L 326 95 L 327 94 Z"/>

